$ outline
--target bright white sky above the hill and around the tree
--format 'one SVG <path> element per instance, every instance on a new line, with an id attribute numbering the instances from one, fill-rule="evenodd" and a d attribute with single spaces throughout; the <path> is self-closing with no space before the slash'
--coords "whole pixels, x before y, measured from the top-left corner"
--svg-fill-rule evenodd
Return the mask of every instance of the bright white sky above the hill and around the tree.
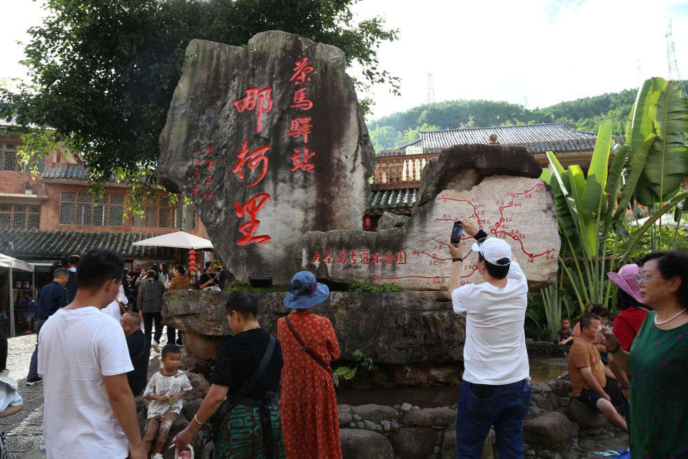
<path id="1" fill-rule="evenodd" d="M 41 24 L 41 3 L 0 0 L 10 13 L 3 15 L 0 79 L 25 78 L 17 41 Z M 667 78 L 669 19 L 678 69 L 688 78 L 688 1 L 364 0 L 352 10 L 399 29 L 398 40 L 380 45 L 378 60 L 401 78 L 401 96 L 384 85 L 359 94 L 376 102 L 369 120 L 427 103 L 428 74 L 436 102 L 506 100 L 530 109 Z"/>

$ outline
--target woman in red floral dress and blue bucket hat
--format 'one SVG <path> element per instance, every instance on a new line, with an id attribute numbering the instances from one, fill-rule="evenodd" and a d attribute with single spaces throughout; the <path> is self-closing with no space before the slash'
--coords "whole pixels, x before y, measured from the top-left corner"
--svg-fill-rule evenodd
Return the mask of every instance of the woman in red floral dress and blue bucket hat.
<path id="1" fill-rule="evenodd" d="M 282 345 L 282 389 L 279 411 L 287 458 L 341 458 L 337 399 L 332 371 L 327 371 L 301 349 L 286 319 L 301 341 L 325 365 L 339 357 L 339 343 L 330 319 L 310 312 L 330 297 L 330 289 L 318 284 L 315 276 L 301 271 L 292 277 L 284 306 L 294 311 L 277 322 Z"/>

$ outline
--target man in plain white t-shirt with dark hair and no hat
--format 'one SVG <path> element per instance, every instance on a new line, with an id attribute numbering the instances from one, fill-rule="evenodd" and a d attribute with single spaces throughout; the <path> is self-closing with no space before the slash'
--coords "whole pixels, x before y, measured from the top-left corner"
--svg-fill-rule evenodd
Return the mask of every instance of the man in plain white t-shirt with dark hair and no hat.
<path id="1" fill-rule="evenodd" d="M 81 257 L 74 301 L 41 328 L 43 438 L 47 458 L 144 459 L 133 370 L 122 327 L 100 312 L 117 295 L 124 261 L 94 248 Z"/>

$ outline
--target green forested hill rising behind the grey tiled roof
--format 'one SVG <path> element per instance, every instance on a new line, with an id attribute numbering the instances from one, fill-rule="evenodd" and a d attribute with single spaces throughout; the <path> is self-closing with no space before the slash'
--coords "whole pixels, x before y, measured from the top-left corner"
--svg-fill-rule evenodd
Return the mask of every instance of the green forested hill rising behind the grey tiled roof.
<path id="1" fill-rule="evenodd" d="M 420 138 L 419 130 L 529 125 L 568 121 L 572 129 L 596 132 L 602 120 L 612 120 L 615 136 L 625 135 L 636 89 L 585 97 L 545 108 L 494 100 L 448 100 L 425 104 L 368 123 L 375 151 L 394 149 Z"/>

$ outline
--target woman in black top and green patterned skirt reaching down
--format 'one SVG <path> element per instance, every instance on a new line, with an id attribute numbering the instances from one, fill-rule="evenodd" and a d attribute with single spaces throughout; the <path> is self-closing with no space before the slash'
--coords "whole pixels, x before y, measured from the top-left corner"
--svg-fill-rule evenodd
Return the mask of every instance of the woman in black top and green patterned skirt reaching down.
<path id="1" fill-rule="evenodd" d="M 258 298 L 252 293 L 233 292 L 226 311 L 235 336 L 220 346 L 211 389 L 173 442 L 185 449 L 226 396 L 226 415 L 213 439 L 215 458 L 284 458 L 277 404 L 281 346 L 258 325 Z"/>

